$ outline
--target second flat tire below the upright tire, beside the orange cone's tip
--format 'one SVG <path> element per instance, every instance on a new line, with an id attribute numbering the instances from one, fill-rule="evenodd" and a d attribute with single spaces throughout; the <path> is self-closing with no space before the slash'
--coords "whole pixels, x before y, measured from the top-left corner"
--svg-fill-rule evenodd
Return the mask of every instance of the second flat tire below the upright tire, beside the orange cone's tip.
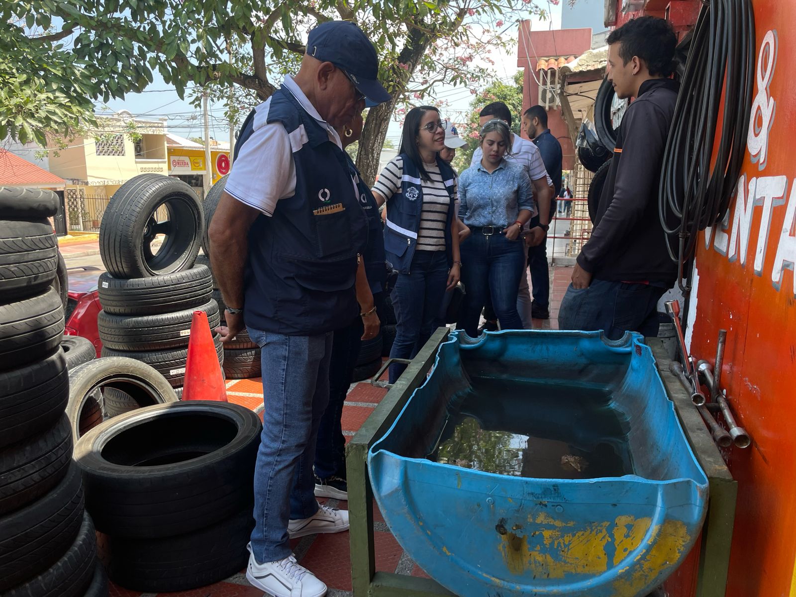
<path id="1" fill-rule="evenodd" d="M 159 315 L 111 315 L 100 311 L 97 326 L 103 346 L 114 350 L 166 350 L 187 346 L 194 311 L 205 311 L 210 330 L 220 323 L 212 298 L 194 309 Z"/>

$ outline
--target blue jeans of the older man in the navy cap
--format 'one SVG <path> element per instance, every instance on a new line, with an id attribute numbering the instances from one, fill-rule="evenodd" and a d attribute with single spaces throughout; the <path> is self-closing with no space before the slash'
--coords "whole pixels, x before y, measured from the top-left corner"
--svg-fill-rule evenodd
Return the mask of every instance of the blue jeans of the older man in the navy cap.
<path id="1" fill-rule="evenodd" d="M 254 474 L 252 554 L 263 564 L 291 554 L 287 522 L 318 511 L 315 436 L 329 402 L 332 333 L 286 336 L 248 329 L 262 349 L 263 434 Z"/>

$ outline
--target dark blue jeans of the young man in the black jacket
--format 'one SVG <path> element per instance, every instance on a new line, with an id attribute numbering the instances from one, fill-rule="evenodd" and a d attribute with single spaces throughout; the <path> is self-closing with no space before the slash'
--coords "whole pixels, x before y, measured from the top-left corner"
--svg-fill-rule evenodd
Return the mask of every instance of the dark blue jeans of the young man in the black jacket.
<path id="1" fill-rule="evenodd" d="M 572 284 L 558 312 L 560 330 L 604 330 L 618 340 L 626 331 L 657 336 L 657 302 L 665 288 L 650 284 L 628 284 L 591 280 L 587 288 Z"/>

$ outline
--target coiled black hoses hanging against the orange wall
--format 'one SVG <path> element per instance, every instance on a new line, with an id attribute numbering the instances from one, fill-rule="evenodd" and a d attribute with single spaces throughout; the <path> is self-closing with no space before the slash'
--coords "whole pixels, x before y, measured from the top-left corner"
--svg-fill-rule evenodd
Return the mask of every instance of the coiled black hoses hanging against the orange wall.
<path id="1" fill-rule="evenodd" d="M 724 219 L 746 152 L 755 79 L 751 0 L 711 0 L 696 21 L 661 172 L 658 211 L 669 256 L 693 258 L 700 230 Z M 716 127 L 724 115 L 716 149 Z M 716 154 L 715 157 L 713 154 Z"/>

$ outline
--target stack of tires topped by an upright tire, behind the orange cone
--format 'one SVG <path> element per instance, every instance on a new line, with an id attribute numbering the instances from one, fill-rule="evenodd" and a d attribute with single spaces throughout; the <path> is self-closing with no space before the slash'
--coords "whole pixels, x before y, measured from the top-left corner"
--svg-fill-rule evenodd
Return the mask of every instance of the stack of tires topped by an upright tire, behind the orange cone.
<path id="1" fill-rule="evenodd" d="M 220 322 L 209 267 L 195 265 L 205 220 L 193 189 L 178 178 L 140 174 L 119 187 L 100 225 L 106 272 L 97 318 L 103 357 L 151 365 L 181 396 L 193 312 L 205 311 L 210 329 Z M 155 250 L 154 243 L 162 241 Z M 219 363 L 220 337 L 213 336 Z M 104 392 L 106 415 L 139 404 L 122 392 Z"/>

